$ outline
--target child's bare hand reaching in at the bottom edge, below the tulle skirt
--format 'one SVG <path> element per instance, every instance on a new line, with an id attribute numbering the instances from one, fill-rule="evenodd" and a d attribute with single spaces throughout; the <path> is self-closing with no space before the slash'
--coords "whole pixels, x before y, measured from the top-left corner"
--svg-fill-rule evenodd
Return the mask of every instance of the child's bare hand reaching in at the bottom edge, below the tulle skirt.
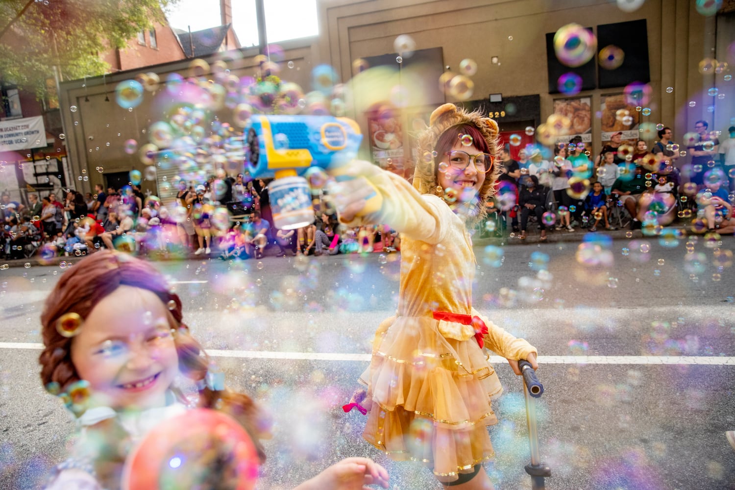
<path id="1" fill-rule="evenodd" d="M 370 490 L 368 485 L 388 488 L 388 472 L 370 458 L 345 458 L 329 466 L 295 490 Z"/>

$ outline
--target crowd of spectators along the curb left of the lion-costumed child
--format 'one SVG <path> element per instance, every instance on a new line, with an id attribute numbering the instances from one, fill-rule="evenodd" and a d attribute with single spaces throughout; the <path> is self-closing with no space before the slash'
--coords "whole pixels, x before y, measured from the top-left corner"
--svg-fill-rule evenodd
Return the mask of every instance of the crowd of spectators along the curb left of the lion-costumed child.
<path id="1" fill-rule="evenodd" d="M 166 205 L 134 184 L 119 190 L 98 184 L 95 194 L 86 196 L 68 190 L 63 202 L 54 192 L 40 200 L 35 192 L 27 197 L 24 206 L 10 201 L 7 192 L 2 195 L 4 259 L 82 256 L 101 248 L 221 259 L 260 259 L 269 248 L 279 257 L 400 249 L 387 226 L 348 228 L 336 215 L 319 211 L 308 226 L 277 230 L 268 182 L 245 183 L 242 174 L 212 176 L 205 184 L 179 181 L 175 199 Z"/>

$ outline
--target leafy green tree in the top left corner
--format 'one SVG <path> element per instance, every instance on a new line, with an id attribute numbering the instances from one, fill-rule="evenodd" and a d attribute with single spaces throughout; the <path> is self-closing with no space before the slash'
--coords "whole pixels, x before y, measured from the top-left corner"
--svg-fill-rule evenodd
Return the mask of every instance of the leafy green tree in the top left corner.
<path id="1" fill-rule="evenodd" d="M 0 81 L 46 95 L 62 79 L 101 75 L 99 54 L 123 48 L 141 29 L 164 22 L 179 0 L 0 0 Z"/>

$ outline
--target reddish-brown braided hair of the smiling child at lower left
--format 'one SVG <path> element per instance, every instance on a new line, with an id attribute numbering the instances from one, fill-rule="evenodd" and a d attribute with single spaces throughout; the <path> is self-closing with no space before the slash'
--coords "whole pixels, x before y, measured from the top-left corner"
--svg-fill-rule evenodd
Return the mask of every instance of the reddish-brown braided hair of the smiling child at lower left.
<path id="1" fill-rule="evenodd" d="M 268 417 L 262 414 L 248 395 L 228 389 L 213 390 L 206 386 L 204 381 L 209 367 L 209 356 L 190 335 L 189 328 L 182 321 L 182 301 L 179 295 L 171 290 L 164 276 L 151 264 L 125 253 L 98 251 L 87 256 L 65 271 L 46 298 L 41 314 L 44 347 L 38 359 L 43 385 L 58 383 L 58 389 L 63 393 L 71 383 L 79 381 L 79 373 L 71 361 L 72 339 L 57 331 L 60 317 L 73 312 L 85 320 L 97 303 L 121 285 L 148 289 L 167 306 L 173 318 L 173 342 L 179 357 L 179 370 L 185 377 L 197 383 L 198 406 L 223 411 L 240 422 L 251 435 L 263 463 L 265 451 L 259 439 L 268 436 Z M 129 449 L 128 444 L 121 444 L 120 435 L 124 430 L 118 423 L 110 420 L 99 422 L 87 430 L 97 433 L 98 439 L 105 441 L 95 461 L 98 478 L 101 482 L 115 486 Z"/>

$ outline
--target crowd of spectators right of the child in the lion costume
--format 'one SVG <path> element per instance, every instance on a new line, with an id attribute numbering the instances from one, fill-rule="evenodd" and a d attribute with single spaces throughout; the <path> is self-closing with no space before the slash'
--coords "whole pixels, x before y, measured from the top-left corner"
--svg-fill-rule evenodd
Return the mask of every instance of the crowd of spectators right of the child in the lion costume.
<path id="1" fill-rule="evenodd" d="M 678 224 L 695 232 L 731 234 L 735 126 L 728 132 L 730 138 L 720 145 L 717 132 L 700 120 L 680 146 L 671 129 L 663 127 L 652 148 L 645 140 L 625 144 L 617 132 L 594 159 L 581 137 L 556 145 L 551 158 L 529 145 L 514 160 L 506 145 L 498 159 L 498 194 L 487 203 L 480 236 L 510 234 L 523 240 L 531 219 L 541 241 L 550 228 L 634 230 Z"/>

